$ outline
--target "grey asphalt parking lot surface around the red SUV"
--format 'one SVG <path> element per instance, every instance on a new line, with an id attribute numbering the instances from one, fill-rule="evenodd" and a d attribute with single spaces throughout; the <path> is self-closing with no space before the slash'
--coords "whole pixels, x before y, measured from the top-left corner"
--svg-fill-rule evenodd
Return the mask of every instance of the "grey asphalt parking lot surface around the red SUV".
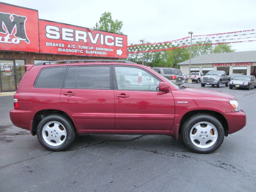
<path id="1" fill-rule="evenodd" d="M 164 135 L 78 136 L 50 152 L 12 125 L 13 96 L 0 97 L 0 191 L 243 191 L 256 188 L 256 89 L 185 83 L 234 94 L 247 124 L 212 154 L 190 152 Z"/>

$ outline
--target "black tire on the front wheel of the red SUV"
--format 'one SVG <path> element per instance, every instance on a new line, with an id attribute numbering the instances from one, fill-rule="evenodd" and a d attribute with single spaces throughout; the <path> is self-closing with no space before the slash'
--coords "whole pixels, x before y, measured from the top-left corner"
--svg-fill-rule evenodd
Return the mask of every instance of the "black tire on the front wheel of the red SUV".
<path id="1" fill-rule="evenodd" d="M 210 123 L 217 130 L 217 134 L 218 134 L 216 136 L 217 139 L 214 142 L 214 144 L 212 144 L 212 146 L 209 146 L 208 148 L 200 148 L 200 147 L 196 146 L 190 139 L 190 131 L 192 130 L 192 128 L 194 128 L 194 126 L 197 123 L 200 123 L 200 122 Z M 209 133 L 206 133 L 206 134 L 209 134 Z M 208 114 L 194 115 L 191 118 L 189 118 L 182 126 L 182 138 L 183 138 L 184 144 L 188 148 L 190 148 L 190 150 L 192 150 L 196 153 L 206 154 L 206 153 L 211 153 L 211 152 L 214 152 L 215 150 L 217 150 L 221 146 L 222 142 L 224 141 L 224 134 L 225 134 L 224 128 L 223 128 L 222 124 L 220 123 L 220 121 L 217 118 L 215 118 L 214 116 L 211 116 Z M 210 138 L 210 136 L 209 136 L 209 138 Z M 204 138 L 202 138 L 202 139 L 204 139 Z"/>

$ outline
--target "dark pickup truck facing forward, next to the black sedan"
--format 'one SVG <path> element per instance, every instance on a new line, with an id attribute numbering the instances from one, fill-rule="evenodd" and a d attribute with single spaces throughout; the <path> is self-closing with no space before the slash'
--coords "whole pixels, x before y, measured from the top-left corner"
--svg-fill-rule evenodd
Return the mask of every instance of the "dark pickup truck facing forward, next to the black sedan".
<path id="1" fill-rule="evenodd" d="M 228 87 L 228 82 L 230 81 L 230 76 L 226 74 L 225 71 L 209 71 L 204 76 L 204 79 L 201 81 L 201 86 L 205 85 L 221 87 L 222 84 L 225 84 Z"/>

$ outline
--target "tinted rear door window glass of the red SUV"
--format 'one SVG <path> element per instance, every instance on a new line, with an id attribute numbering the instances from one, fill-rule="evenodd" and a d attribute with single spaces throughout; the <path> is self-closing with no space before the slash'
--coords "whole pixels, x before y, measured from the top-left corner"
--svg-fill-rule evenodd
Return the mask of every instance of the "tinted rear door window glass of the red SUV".
<path id="1" fill-rule="evenodd" d="M 69 67 L 64 88 L 110 89 L 110 67 Z"/>

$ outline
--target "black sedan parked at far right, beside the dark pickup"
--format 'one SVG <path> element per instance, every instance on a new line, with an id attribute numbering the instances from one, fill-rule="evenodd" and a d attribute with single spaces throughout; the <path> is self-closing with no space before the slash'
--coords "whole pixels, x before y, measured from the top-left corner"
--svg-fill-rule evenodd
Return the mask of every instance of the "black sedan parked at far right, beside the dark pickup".
<path id="1" fill-rule="evenodd" d="M 256 88 L 256 80 L 252 75 L 239 75 L 229 82 L 229 88 Z"/>

